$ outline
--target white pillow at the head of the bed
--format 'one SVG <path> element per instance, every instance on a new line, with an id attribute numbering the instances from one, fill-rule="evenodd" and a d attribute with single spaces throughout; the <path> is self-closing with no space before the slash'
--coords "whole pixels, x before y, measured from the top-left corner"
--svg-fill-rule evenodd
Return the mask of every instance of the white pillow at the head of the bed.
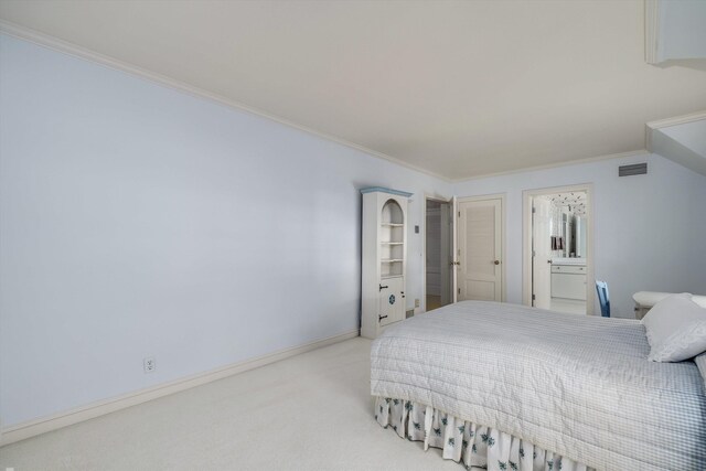
<path id="1" fill-rule="evenodd" d="M 687 292 L 664 298 L 642 319 L 652 362 L 681 362 L 706 351 L 706 309 Z"/>

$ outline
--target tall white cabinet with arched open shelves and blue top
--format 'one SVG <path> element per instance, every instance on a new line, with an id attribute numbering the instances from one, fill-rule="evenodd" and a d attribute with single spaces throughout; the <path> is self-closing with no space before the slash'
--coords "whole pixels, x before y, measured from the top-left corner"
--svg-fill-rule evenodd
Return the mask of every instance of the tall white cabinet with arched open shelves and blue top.
<path id="1" fill-rule="evenodd" d="M 364 189 L 361 335 L 375 339 L 405 319 L 407 199 L 411 193 Z"/>

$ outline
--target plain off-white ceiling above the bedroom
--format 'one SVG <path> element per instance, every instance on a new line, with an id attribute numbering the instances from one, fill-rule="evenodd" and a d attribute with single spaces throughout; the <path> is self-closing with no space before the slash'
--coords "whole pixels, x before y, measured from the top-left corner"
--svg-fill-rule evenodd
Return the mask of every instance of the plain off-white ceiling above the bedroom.
<path id="1" fill-rule="evenodd" d="M 645 148 L 706 67 L 634 1 L 0 1 L 0 18 L 458 180 Z"/>

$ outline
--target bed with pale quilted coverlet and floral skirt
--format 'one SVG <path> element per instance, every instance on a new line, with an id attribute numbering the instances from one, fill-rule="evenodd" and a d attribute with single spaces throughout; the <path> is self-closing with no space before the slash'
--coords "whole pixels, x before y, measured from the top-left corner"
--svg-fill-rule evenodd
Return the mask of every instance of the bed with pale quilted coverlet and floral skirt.
<path id="1" fill-rule="evenodd" d="M 463 301 L 372 345 L 375 418 L 468 469 L 704 470 L 694 361 L 648 361 L 640 321 Z"/>

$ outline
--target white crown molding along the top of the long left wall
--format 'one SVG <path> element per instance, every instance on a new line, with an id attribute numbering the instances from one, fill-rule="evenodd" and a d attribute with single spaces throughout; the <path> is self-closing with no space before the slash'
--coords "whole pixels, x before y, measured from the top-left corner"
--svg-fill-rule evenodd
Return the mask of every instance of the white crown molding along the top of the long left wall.
<path id="1" fill-rule="evenodd" d="M 435 179 L 439 179 L 439 180 L 445 181 L 445 182 L 450 182 L 450 179 L 448 179 L 447 176 L 443 176 L 443 175 L 440 175 L 438 173 L 431 172 L 430 170 L 424 169 L 421 167 L 414 165 L 414 164 L 411 164 L 409 162 L 406 162 L 404 160 L 400 160 L 400 159 L 397 159 L 395 157 L 388 156 L 386 153 L 378 152 L 376 150 L 368 149 L 368 148 L 366 148 L 364 146 L 356 144 L 356 143 L 347 141 L 345 139 L 341 139 L 341 138 L 338 138 L 335 136 L 331 136 L 331 135 L 328 135 L 325 132 L 321 132 L 321 131 L 318 131 L 315 129 L 298 125 L 298 124 L 289 121 L 289 120 L 287 120 L 285 118 L 280 118 L 280 117 L 278 117 L 276 115 L 270 115 L 270 114 L 268 114 L 266 111 L 261 111 L 261 110 L 259 110 L 257 108 L 254 108 L 252 106 L 242 104 L 242 103 L 236 101 L 236 100 L 231 99 L 231 98 L 226 98 L 226 97 L 224 97 L 222 95 L 204 90 L 203 88 L 199 88 L 196 86 L 193 86 L 193 85 L 186 84 L 184 82 L 180 82 L 180 81 L 170 78 L 170 77 L 161 75 L 161 74 L 157 74 L 154 72 L 150 72 L 150 71 L 145 69 L 142 67 L 138 67 L 136 65 L 128 64 L 128 63 L 119 61 L 117 58 L 114 58 L 114 57 L 97 53 L 97 52 L 88 50 L 86 47 L 82 47 L 82 46 L 79 46 L 77 44 L 74 44 L 74 43 L 71 43 L 71 42 L 67 42 L 67 41 L 64 41 L 64 40 L 60 40 L 58 38 L 54 38 L 54 36 L 51 36 L 49 34 L 41 33 L 39 31 L 22 26 L 20 24 L 15 24 L 15 23 L 11 23 L 11 22 L 4 21 L 4 20 L 0 20 L 0 32 L 4 33 L 4 34 L 8 34 L 8 35 L 11 35 L 11 36 L 14 36 L 14 38 L 18 38 L 18 39 L 21 39 L 21 40 L 24 40 L 24 41 L 32 42 L 34 44 L 39 44 L 39 45 L 44 46 L 44 47 L 52 49 L 54 51 L 62 52 L 64 54 L 68 54 L 68 55 L 73 55 L 75 57 L 79 57 L 79 58 L 86 60 L 86 61 L 95 62 L 95 63 L 98 63 L 98 64 L 104 65 L 106 67 L 110 67 L 110 68 L 120 71 L 120 72 L 125 72 L 125 73 L 128 73 L 128 74 L 131 74 L 131 75 L 137 75 L 137 76 L 139 76 L 141 78 L 148 79 L 150 82 L 158 83 L 158 84 L 163 85 L 165 87 L 169 87 L 169 88 L 172 88 L 172 89 L 175 89 L 175 90 L 179 90 L 179 92 L 182 92 L 182 93 L 185 93 L 185 94 L 199 97 L 199 98 L 204 98 L 204 99 L 207 99 L 207 100 L 211 100 L 211 101 L 215 101 L 215 103 L 217 103 L 220 105 L 225 105 L 227 107 L 235 108 L 235 109 L 237 109 L 239 111 L 246 111 L 246 113 L 248 113 L 250 115 L 255 115 L 255 116 L 258 116 L 260 118 L 269 119 L 269 120 L 275 121 L 277 124 L 280 124 L 280 125 L 284 125 L 284 126 L 288 126 L 290 128 L 295 128 L 297 130 L 307 132 L 309 135 L 313 135 L 313 136 L 315 136 L 318 138 L 321 138 L 321 139 L 324 139 L 324 140 L 328 140 L 328 141 L 332 141 L 332 142 L 339 143 L 341 146 L 349 147 L 351 149 L 355 149 L 357 151 L 367 153 L 367 154 L 373 156 L 373 157 L 377 157 L 379 159 L 387 160 L 389 162 L 396 163 L 398 165 L 405 167 L 405 168 L 414 170 L 416 172 L 420 172 L 420 173 L 427 174 L 429 176 L 434 176 Z"/>

